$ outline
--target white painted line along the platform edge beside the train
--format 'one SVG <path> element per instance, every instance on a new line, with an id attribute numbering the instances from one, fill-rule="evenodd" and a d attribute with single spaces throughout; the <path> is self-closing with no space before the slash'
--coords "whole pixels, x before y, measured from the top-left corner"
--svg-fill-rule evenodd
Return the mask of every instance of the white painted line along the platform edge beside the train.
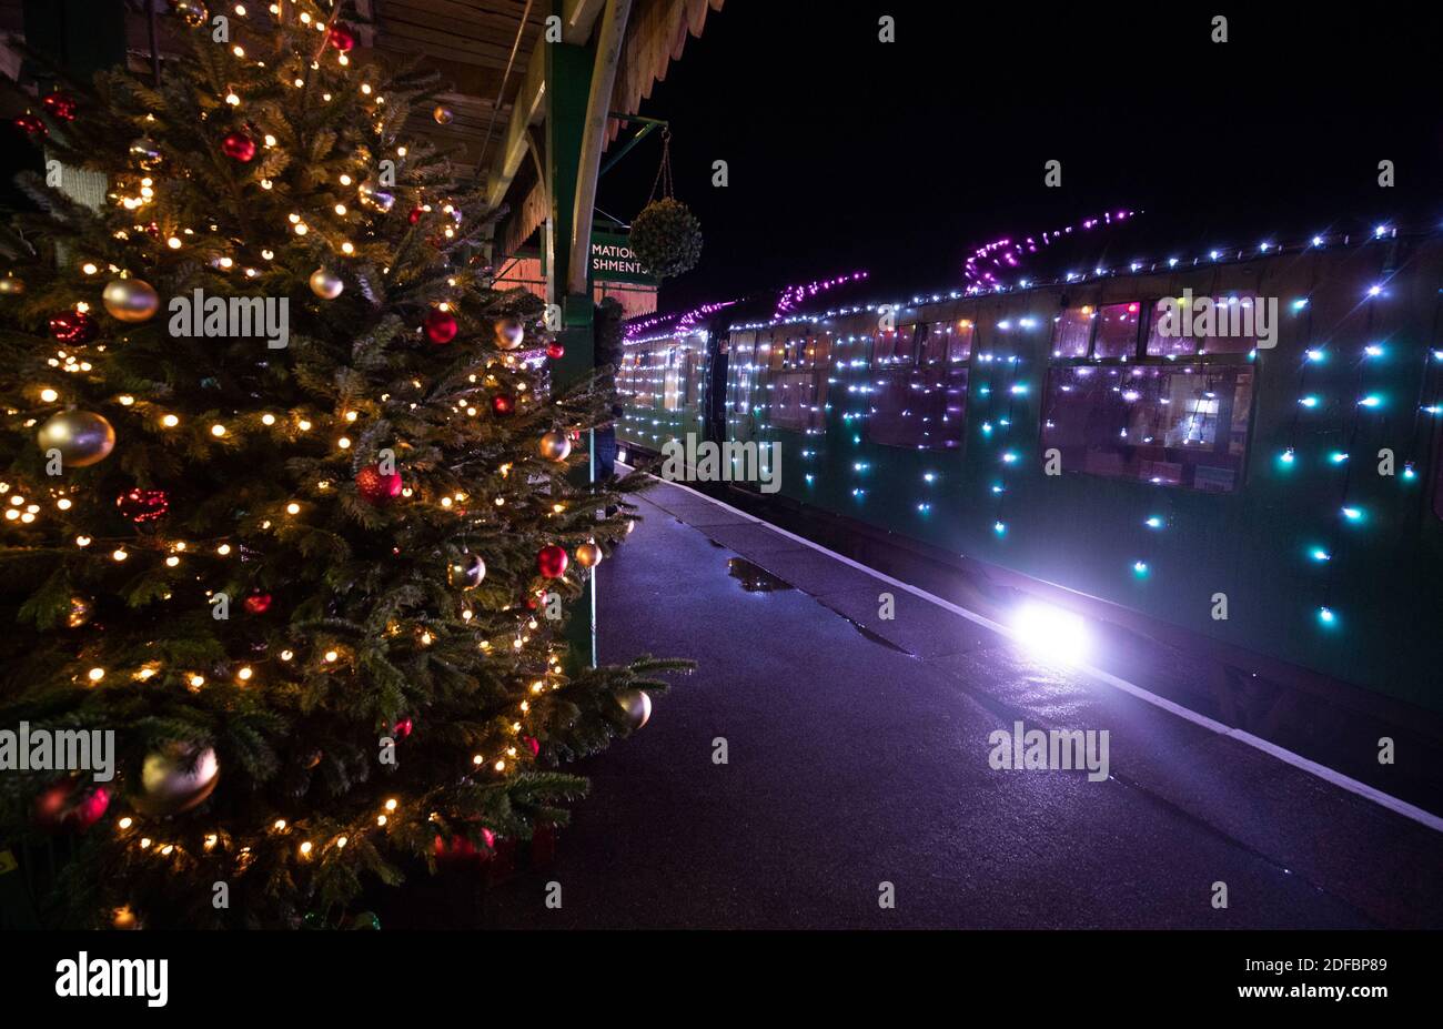
<path id="1" fill-rule="evenodd" d="M 626 465 L 625 462 L 618 460 L 616 463 L 622 465 L 628 470 L 632 470 L 632 466 Z M 882 572 L 877 572 L 876 569 L 869 569 L 866 564 L 861 564 L 860 561 L 854 561 L 850 557 L 846 557 L 844 554 L 838 554 L 834 550 L 827 550 L 820 543 L 812 543 L 811 540 L 807 540 L 807 538 L 804 538 L 801 535 L 797 535 L 795 533 L 788 533 L 785 528 L 779 528 L 779 527 L 771 524 L 769 521 L 765 521 L 765 520 L 758 518 L 755 515 L 749 515 L 746 511 L 739 511 L 734 507 L 732 507 L 730 504 L 724 504 L 724 502 L 716 499 L 714 496 L 707 496 L 706 494 L 698 492 L 698 491 L 693 489 L 691 486 L 688 486 L 685 483 L 671 482 L 670 479 L 658 479 L 658 476 L 655 476 L 655 475 L 652 475 L 651 478 L 657 479 L 658 482 L 665 482 L 668 486 L 675 486 L 677 489 L 684 489 L 688 494 L 691 494 L 693 496 L 700 496 L 704 501 L 716 504 L 719 508 L 724 508 L 726 511 L 730 511 L 732 514 L 737 515 L 739 518 L 745 518 L 749 522 L 753 522 L 753 524 L 758 524 L 758 525 L 766 525 L 766 528 L 769 528 L 771 531 L 773 531 L 773 533 L 776 533 L 779 535 L 785 535 L 788 540 L 795 540 L 797 543 L 799 543 L 799 544 L 802 544 L 805 547 L 811 547 L 815 551 L 827 554 L 827 557 L 831 557 L 833 560 L 841 561 L 843 564 L 846 564 L 848 567 L 857 569 L 857 572 L 866 572 L 873 579 L 880 579 L 882 582 L 887 583 L 889 586 L 895 586 L 895 587 L 898 587 L 900 590 L 906 590 L 912 596 L 916 596 L 916 597 L 921 597 L 924 600 L 928 600 L 929 603 L 934 603 L 938 608 L 942 608 L 945 610 L 952 612 L 954 615 L 965 618 L 968 622 L 975 622 L 977 625 L 984 625 L 988 629 L 991 629 L 993 632 L 997 632 L 997 634 L 1000 634 L 1003 636 L 1007 636 L 1009 639 L 1013 639 L 1016 642 L 1022 642 L 1019 639 L 1017 634 L 1012 629 L 1012 626 L 1003 625 L 1000 622 L 994 622 L 990 618 L 984 618 L 983 615 L 978 615 L 974 610 L 967 610 L 967 608 L 961 608 L 961 606 L 952 603 L 951 600 L 944 600 L 939 596 L 934 596 L 932 593 L 928 593 L 925 589 L 913 586 L 912 583 L 905 583 L 900 579 L 893 579 L 892 576 L 885 574 Z M 701 531 L 701 530 L 698 530 L 698 531 Z M 1097 668 L 1097 667 L 1089 665 L 1089 664 L 1076 664 L 1074 667 L 1078 668 L 1079 671 L 1087 673 L 1092 678 L 1095 678 L 1095 680 L 1098 680 L 1101 683 L 1105 683 L 1107 686 L 1111 686 L 1111 687 L 1114 687 L 1117 690 L 1121 690 L 1123 693 L 1131 694 L 1133 697 L 1137 697 L 1139 700 L 1144 700 L 1149 704 L 1153 704 L 1154 707 L 1163 709 L 1165 711 L 1170 711 L 1172 714 L 1176 714 L 1179 719 L 1185 719 L 1186 722 L 1192 722 L 1193 724 L 1202 726 L 1203 729 L 1206 729 L 1209 732 L 1214 732 L 1214 733 L 1218 733 L 1219 736 L 1228 736 L 1231 739 L 1238 740 L 1240 743 L 1245 743 L 1245 745 L 1251 746 L 1253 749 L 1261 750 L 1266 755 L 1277 758 L 1278 761 L 1281 761 L 1281 762 L 1284 762 L 1287 765 L 1291 765 L 1293 768 L 1299 768 L 1299 769 L 1307 772 L 1309 775 L 1316 775 L 1319 779 L 1323 779 L 1325 782 L 1330 782 L 1335 787 L 1346 789 L 1351 794 L 1356 794 L 1358 797 L 1362 797 L 1364 800 L 1369 800 L 1374 804 L 1378 804 L 1380 807 L 1385 807 L 1390 811 L 1392 811 L 1394 814 L 1401 814 L 1404 818 L 1411 818 L 1413 821 L 1418 823 L 1420 826 L 1427 826 L 1434 833 L 1443 833 L 1443 818 L 1440 818 L 1439 815 L 1433 814 L 1431 811 L 1424 811 L 1423 808 L 1420 808 L 1420 807 L 1417 807 L 1414 804 L 1408 804 L 1407 801 L 1398 800 L 1392 794 L 1385 794 L 1381 789 L 1377 789 L 1375 787 L 1369 787 L 1367 782 L 1359 782 L 1358 779 L 1355 779 L 1352 776 L 1348 776 L 1348 775 L 1343 775 L 1342 772 L 1339 772 L 1336 769 L 1328 768 L 1326 765 L 1319 765 L 1316 761 L 1309 761 L 1307 758 L 1304 758 L 1300 753 L 1293 753 L 1287 748 L 1281 748 L 1277 743 L 1270 743 L 1268 740 L 1263 739 L 1260 736 L 1254 736 L 1250 732 L 1244 732 L 1241 729 L 1234 729 L 1232 726 L 1227 726 L 1222 722 L 1218 722 L 1215 719 L 1209 719 L 1206 714 L 1198 714 L 1198 711 L 1193 711 L 1193 710 L 1190 710 L 1188 707 L 1183 707 L 1182 704 L 1176 704 L 1172 700 L 1167 700 L 1166 697 L 1159 697 L 1156 693 L 1150 693 L 1149 690 L 1144 690 L 1143 687 L 1137 686 L 1136 683 L 1128 683 L 1126 678 L 1118 678 L 1117 675 L 1114 675 L 1110 671 L 1104 671 L 1104 670 Z"/>

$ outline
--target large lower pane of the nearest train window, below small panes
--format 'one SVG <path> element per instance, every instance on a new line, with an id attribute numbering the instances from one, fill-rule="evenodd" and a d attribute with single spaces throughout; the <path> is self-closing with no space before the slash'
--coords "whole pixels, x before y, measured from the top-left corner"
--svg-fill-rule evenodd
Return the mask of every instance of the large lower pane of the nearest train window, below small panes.
<path id="1" fill-rule="evenodd" d="M 1052 368 L 1043 447 L 1063 470 L 1232 492 L 1253 407 L 1240 365 Z"/>

